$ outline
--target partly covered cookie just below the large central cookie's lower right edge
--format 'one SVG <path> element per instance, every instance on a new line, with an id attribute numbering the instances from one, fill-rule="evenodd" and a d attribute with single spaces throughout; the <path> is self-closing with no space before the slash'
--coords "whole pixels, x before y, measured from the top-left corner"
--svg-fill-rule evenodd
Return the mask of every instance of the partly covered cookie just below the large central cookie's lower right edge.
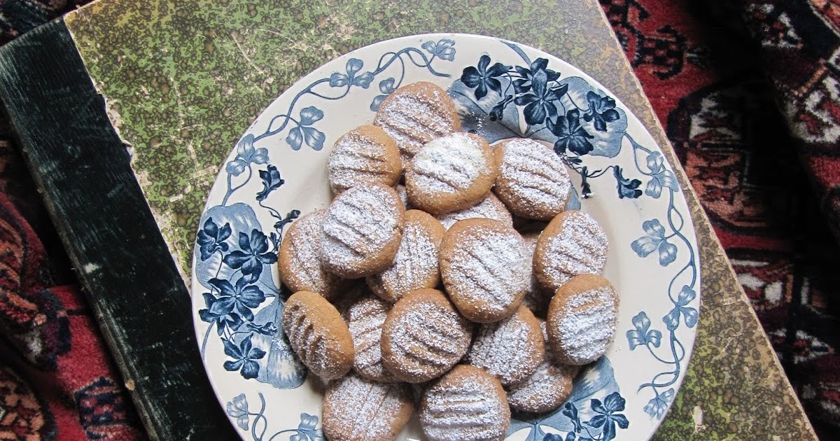
<path id="1" fill-rule="evenodd" d="M 521 306 L 511 317 L 482 324 L 466 361 L 498 378 L 502 386 L 512 386 L 532 375 L 544 357 L 539 321 Z"/>

